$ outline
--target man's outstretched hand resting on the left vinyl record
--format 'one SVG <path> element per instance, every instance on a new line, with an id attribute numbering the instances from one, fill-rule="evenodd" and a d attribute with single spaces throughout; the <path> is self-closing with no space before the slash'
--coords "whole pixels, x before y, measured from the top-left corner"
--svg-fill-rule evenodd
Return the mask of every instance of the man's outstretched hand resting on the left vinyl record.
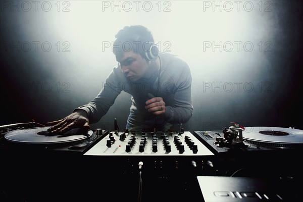
<path id="1" fill-rule="evenodd" d="M 64 119 L 48 122 L 46 125 L 52 126 L 47 130 L 51 133 L 64 133 L 71 129 L 81 127 L 84 127 L 87 130 L 90 129 L 90 126 L 88 125 L 87 113 L 84 110 L 77 110 Z"/>

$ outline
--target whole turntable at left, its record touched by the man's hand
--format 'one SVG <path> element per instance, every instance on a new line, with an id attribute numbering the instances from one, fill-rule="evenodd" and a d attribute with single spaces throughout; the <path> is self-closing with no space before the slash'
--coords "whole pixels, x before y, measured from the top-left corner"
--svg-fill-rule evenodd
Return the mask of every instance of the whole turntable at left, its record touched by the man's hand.
<path id="1" fill-rule="evenodd" d="M 29 127 L 11 130 L 1 138 L 2 147 L 22 150 L 57 150 L 71 151 L 74 154 L 84 154 L 97 143 L 108 131 L 102 129 L 86 130 L 75 128 L 61 134 L 52 134 L 49 127 Z"/>

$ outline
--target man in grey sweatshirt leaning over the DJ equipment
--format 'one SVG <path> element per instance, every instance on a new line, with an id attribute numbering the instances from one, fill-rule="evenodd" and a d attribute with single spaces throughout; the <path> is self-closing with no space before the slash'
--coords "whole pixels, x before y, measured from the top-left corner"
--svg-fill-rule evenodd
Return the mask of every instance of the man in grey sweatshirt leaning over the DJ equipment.
<path id="1" fill-rule="evenodd" d="M 64 119 L 49 122 L 51 132 L 90 129 L 114 104 L 122 90 L 132 95 L 126 129 L 168 131 L 192 116 L 191 72 L 185 61 L 159 52 L 151 32 L 141 25 L 116 34 L 113 52 L 118 65 L 100 93 Z M 54 125 L 55 124 L 55 125 Z"/>

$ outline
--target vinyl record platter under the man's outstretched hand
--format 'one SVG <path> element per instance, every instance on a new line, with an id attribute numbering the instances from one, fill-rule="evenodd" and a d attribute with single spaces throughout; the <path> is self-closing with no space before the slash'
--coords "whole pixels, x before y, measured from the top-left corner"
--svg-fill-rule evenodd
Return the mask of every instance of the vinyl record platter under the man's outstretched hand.
<path id="1" fill-rule="evenodd" d="M 93 135 L 91 130 L 83 132 L 80 128 L 62 134 L 51 134 L 47 131 L 48 128 L 47 126 L 11 131 L 5 135 L 5 139 L 14 143 L 64 144 L 89 139 Z"/>

